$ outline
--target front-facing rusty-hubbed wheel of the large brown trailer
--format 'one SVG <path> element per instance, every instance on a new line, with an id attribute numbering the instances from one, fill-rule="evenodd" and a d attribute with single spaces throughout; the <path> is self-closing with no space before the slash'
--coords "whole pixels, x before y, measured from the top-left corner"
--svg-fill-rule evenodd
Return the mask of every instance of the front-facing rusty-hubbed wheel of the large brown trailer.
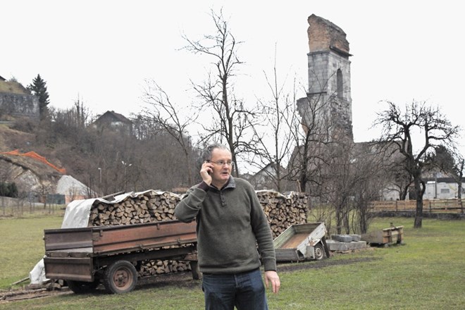
<path id="1" fill-rule="evenodd" d="M 137 271 L 129 261 L 116 261 L 106 267 L 104 286 L 107 292 L 120 294 L 134 290 Z"/>

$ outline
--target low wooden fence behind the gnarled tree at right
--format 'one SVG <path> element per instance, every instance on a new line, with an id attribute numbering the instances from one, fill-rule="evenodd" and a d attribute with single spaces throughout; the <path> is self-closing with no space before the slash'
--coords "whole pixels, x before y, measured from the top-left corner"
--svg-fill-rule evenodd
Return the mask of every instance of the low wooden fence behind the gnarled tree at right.
<path id="1" fill-rule="evenodd" d="M 414 212 L 416 200 L 371 202 L 373 211 Z M 423 213 L 464 213 L 461 199 L 423 199 Z"/>

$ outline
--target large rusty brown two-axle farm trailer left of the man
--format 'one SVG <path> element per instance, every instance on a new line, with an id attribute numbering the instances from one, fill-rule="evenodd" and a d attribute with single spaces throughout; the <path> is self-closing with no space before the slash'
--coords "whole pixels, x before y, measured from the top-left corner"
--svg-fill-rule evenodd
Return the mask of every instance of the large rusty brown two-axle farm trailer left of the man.
<path id="1" fill-rule="evenodd" d="M 130 292 L 149 259 L 190 261 L 199 278 L 196 223 L 163 221 L 118 226 L 44 230 L 45 275 L 66 280 L 75 293 L 103 283 L 111 293 Z"/>

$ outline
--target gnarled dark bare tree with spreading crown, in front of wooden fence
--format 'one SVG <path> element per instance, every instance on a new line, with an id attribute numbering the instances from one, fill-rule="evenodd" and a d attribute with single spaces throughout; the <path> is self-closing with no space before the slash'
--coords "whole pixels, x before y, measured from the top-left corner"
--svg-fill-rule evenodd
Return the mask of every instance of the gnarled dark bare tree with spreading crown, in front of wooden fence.
<path id="1" fill-rule="evenodd" d="M 387 104 L 388 109 L 378 113 L 373 125 L 383 128 L 379 141 L 394 145 L 405 158 L 404 168 L 413 179 L 416 193 L 414 228 L 421 228 L 423 194 L 426 190 L 422 171 L 426 165 L 428 151 L 432 151 L 439 144 L 454 147 L 459 126 L 453 126 L 439 108 L 427 106 L 424 101 L 413 101 L 405 106 L 404 111 L 390 101 L 387 101 Z M 414 149 L 415 130 L 421 130 L 423 134 L 423 144 L 418 151 Z"/>

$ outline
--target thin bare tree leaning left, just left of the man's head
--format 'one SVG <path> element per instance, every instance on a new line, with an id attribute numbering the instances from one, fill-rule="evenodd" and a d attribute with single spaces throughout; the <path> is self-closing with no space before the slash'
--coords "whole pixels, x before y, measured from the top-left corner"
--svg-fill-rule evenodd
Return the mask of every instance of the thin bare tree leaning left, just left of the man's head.
<path id="1" fill-rule="evenodd" d="M 148 120 L 153 120 L 179 144 L 185 156 L 187 182 L 192 184 L 192 170 L 189 168 L 192 166 L 190 165 L 192 144 L 187 134 L 187 126 L 197 120 L 198 113 L 192 109 L 184 109 L 183 113 L 180 112 L 180 107 L 171 101 L 168 94 L 156 82 L 153 80 L 146 82 L 144 101 L 151 106 L 151 109 L 145 109 L 144 116 Z"/>

